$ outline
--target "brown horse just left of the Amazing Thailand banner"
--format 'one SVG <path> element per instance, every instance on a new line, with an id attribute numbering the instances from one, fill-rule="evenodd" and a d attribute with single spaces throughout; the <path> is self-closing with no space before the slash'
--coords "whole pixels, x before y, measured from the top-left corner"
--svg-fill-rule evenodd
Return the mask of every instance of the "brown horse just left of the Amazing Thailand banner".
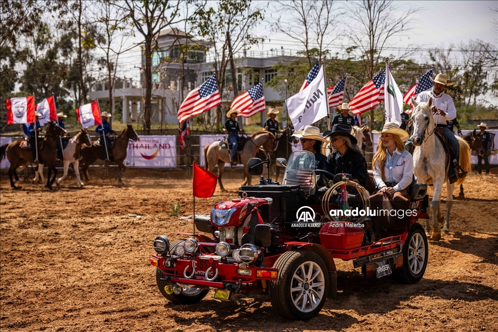
<path id="1" fill-rule="evenodd" d="M 126 129 L 116 138 L 110 151 L 110 158 L 114 163 L 118 165 L 118 179 L 121 184 L 124 184 L 122 175 L 126 170 L 123 162 L 126 159 L 126 150 L 128 148 L 129 140 L 137 141 L 140 138 L 136 133 L 135 129 L 131 125 L 127 125 Z M 103 143 L 101 143 L 103 144 Z M 106 160 L 107 166 L 107 155 L 106 148 L 104 145 L 101 146 L 86 146 L 81 149 L 81 156 L 83 157 L 83 174 L 85 175 L 85 180 L 88 181 L 88 167 L 93 164 L 97 159 Z"/>

